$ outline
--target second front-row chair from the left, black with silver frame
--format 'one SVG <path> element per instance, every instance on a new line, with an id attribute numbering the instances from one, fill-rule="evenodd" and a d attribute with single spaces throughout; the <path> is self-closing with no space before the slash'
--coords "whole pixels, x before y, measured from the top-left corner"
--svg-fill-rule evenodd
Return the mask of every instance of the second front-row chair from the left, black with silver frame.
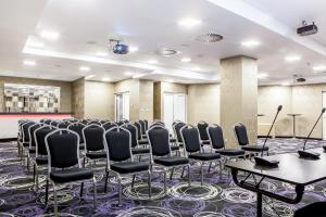
<path id="1" fill-rule="evenodd" d="M 114 127 L 105 131 L 103 138 L 108 161 L 104 191 L 106 192 L 109 174 L 113 173 L 118 182 L 118 205 L 121 205 L 122 176 L 148 174 L 149 199 L 151 199 L 151 170 L 149 163 L 134 161 L 130 132 L 125 128 Z M 131 187 L 134 187 L 134 182 Z"/>

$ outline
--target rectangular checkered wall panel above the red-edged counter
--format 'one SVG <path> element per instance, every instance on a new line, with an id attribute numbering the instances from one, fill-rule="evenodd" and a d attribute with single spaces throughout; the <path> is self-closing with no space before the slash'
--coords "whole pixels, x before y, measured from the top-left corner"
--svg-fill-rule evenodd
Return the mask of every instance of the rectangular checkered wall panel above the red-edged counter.
<path id="1" fill-rule="evenodd" d="M 4 84 L 7 112 L 60 112 L 60 87 Z"/>

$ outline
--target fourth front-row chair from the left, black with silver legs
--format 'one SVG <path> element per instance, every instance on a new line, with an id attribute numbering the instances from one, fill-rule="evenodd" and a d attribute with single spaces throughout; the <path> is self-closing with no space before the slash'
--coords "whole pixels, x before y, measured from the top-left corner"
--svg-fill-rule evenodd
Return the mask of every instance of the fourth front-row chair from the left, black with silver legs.
<path id="1" fill-rule="evenodd" d="M 198 128 L 186 125 L 181 128 L 180 132 L 186 156 L 191 159 L 191 162 L 200 163 L 200 183 L 203 184 L 203 164 L 210 163 L 211 166 L 212 163 L 215 163 L 216 165 L 218 163 L 221 169 L 221 155 L 218 153 L 203 151 Z"/>

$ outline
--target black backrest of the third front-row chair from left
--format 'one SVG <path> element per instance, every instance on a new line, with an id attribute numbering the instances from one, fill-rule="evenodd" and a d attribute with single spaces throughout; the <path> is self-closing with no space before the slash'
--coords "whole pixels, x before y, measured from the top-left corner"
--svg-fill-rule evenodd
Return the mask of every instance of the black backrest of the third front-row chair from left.
<path id="1" fill-rule="evenodd" d="M 147 131 L 153 156 L 164 156 L 171 153 L 170 135 L 164 127 L 153 127 Z"/>

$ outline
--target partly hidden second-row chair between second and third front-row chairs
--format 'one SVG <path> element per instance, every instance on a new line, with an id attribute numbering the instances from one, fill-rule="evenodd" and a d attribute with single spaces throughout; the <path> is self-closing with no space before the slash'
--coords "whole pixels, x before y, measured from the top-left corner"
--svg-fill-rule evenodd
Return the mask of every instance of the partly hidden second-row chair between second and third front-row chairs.
<path id="1" fill-rule="evenodd" d="M 138 132 L 137 132 L 138 129 L 135 125 L 124 124 L 122 127 L 127 129 L 130 132 L 130 136 L 131 136 L 131 153 L 134 155 L 138 155 L 139 161 L 140 161 L 141 155 L 150 153 L 149 148 L 146 146 L 146 144 L 148 144 L 147 140 L 146 140 L 146 143 L 139 144 Z"/>

